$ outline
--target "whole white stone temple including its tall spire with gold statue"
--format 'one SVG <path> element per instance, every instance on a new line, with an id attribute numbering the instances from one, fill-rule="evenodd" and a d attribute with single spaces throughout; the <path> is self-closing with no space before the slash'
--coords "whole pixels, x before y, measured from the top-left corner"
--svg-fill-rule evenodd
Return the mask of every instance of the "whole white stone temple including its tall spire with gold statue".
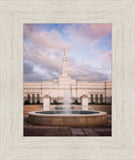
<path id="1" fill-rule="evenodd" d="M 85 93 L 88 103 L 111 104 L 112 82 L 77 81 L 68 75 L 67 57 L 64 49 L 62 75 L 53 81 L 24 82 L 24 104 L 43 103 L 48 94 L 50 103 L 63 103 L 64 92 L 71 93 L 72 103 L 80 103 Z"/>

